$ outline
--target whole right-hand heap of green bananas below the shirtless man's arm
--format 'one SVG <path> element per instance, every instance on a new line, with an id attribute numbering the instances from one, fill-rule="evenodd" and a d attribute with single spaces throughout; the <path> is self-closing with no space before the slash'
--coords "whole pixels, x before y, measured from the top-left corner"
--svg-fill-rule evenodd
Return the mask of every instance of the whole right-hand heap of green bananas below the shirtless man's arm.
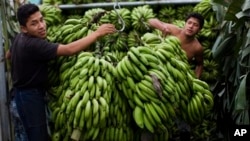
<path id="1" fill-rule="evenodd" d="M 192 75 L 179 40 L 150 33 L 141 38 L 147 41 L 145 46 L 131 47 L 115 73 L 134 109 L 136 124 L 155 133 L 171 128 L 178 116 L 202 121 L 213 106 L 213 95 L 205 82 Z"/>

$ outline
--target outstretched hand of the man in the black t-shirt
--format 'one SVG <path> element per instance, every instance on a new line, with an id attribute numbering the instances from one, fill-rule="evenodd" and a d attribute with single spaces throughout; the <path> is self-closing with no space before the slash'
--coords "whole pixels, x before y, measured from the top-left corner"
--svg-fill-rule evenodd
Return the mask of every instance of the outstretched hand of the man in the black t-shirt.
<path id="1" fill-rule="evenodd" d="M 98 34 L 98 37 L 102 37 L 107 34 L 111 34 L 116 32 L 115 26 L 113 24 L 102 24 L 98 27 L 98 29 L 95 31 Z"/>

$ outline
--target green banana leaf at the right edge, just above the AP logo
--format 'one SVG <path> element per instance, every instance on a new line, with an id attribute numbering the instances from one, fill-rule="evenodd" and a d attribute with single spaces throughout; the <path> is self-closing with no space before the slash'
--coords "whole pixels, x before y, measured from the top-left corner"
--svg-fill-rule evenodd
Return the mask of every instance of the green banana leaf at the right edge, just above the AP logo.
<path id="1" fill-rule="evenodd" d="M 250 83 L 249 72 L 242 77 L 234 99 L 233 117 L 236 124 L 249 124 L 249 98 L 247 97 L 247 84 Z"/>

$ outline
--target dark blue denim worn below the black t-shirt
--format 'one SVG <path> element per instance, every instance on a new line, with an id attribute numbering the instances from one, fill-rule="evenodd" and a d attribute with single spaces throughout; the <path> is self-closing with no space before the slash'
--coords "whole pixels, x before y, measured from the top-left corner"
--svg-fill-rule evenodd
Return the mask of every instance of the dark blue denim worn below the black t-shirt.
<path id="1" fill-rule="evenodd" d="M 28 141 L 48 141 L 45 91 L 14 89 L 14 100 Z"/>

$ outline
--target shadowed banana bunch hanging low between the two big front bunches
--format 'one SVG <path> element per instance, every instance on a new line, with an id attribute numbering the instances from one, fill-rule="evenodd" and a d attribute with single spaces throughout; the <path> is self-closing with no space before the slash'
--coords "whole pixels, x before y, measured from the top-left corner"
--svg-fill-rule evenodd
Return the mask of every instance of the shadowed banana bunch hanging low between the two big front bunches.
<path id="1" fill-rule="evenodd" d="M 128 102 L 124 100 L 119 88 L 114 86 L 106 127 L 98 137 L 98 141 L 133 141 L 132 112 Z"/>

